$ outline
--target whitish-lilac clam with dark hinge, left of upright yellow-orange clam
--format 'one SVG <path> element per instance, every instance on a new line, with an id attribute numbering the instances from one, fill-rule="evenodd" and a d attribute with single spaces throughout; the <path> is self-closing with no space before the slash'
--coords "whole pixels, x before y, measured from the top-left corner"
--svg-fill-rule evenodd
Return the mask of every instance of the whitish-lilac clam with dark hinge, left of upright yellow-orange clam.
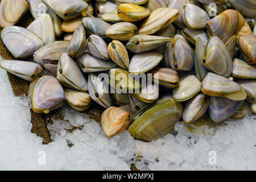
<path id="1" fill-rule="evenodd" d="M 90 35 L 87 39 L 87 48 L 88 51 L 93 55 L 100 59 L 110 59 L 108 53 L 108 45 L 98 35 Z"/>

